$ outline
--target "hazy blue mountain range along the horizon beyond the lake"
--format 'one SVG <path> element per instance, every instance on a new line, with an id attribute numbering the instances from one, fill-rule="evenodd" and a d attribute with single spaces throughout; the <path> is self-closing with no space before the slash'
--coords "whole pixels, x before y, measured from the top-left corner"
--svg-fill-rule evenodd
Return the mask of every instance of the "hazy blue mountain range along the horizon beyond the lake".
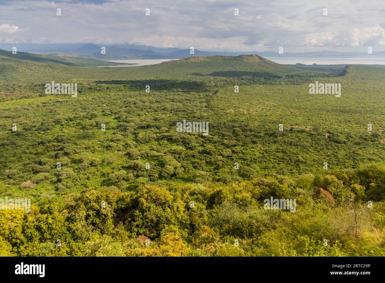
<path id="1" fill-rule="evenodd" d="M 249 52 L 220 52 L 220 51 L 202 51 L 195 49 L 194 54 L 190 54 L 190 49 L 179 48 L 159 48 L 147 45 L 136 44 L 115 44 L 115 45 L 96 45 L 87 44 L 6 44 L 0 43 L 0 49 L 12 50 L 16 46 L 18 51 L 34 53 L 60 53 L 65 55 L 71 53 L 71 57 L 84 57 L 81 54 L 94 54 L 99 60 L 124 60 L 124 59 L 181 59 L 192 56 L 238 56 L 238 55 L 259 55 L 264 58 L 274 57 L 304 57 L 304 58 L 385 58 L 385 51 L 373 52 L 338 52 L 338 51 L 317 51 L 304 53 L 284 52 L 279 54 L 274 51 L 249 51 Z M 105 54 L 101 54 L 101 48 L 105 47 Z"/>

